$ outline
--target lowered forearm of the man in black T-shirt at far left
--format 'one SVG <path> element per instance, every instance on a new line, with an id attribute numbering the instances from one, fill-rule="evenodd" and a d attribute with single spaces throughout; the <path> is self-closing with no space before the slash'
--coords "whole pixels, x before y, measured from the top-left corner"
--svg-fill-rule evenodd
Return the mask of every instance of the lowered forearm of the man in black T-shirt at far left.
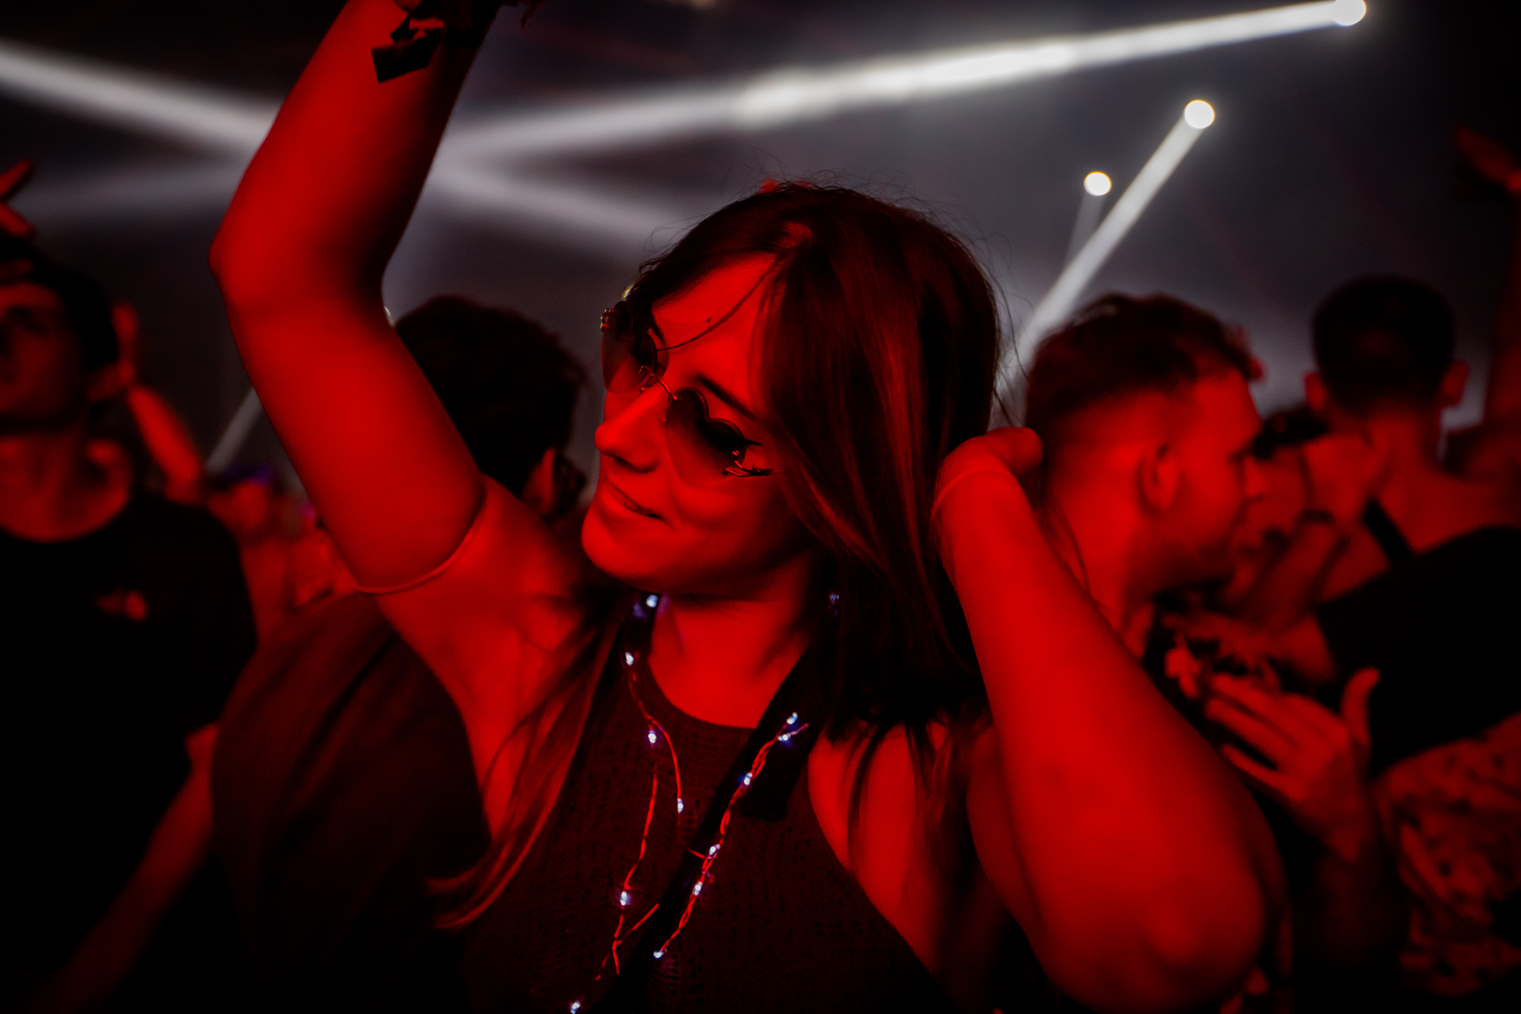
<path id="1" fill-rule="evenodd" d="M 214 746 L 216 725 L 186 737 L 190 775 L 154 827 L 131 879 L 64 967 L 27 999 L 26 1014 L 99 1011 L 126 979 L 210 851 Z"/>

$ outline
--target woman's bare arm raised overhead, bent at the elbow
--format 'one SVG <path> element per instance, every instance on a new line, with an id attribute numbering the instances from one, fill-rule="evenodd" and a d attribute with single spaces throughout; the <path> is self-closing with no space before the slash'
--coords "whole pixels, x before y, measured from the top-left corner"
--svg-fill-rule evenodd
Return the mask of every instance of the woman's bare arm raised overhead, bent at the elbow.
<path id="1" fill-rule="evenodd" d="M 351 0 L 243 175 L 211 246 L 243 365 L 354 576 L 399 585 L 447 559 L 482 479 L 386 322 L 380 280 L 473 52 L 376 81 L 403 17 Z"/>

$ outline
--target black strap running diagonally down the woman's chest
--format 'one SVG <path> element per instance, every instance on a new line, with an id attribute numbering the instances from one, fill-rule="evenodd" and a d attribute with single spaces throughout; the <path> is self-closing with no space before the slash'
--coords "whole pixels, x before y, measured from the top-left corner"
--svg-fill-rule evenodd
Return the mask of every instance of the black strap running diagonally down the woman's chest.
<path id="1" fill-rule="evenodd" d="M 718 792 L 703 813 L 703 822 L 694 832 L 692 839 L 681 854 L 681 863 L 677 867 L 675 876 L 671 877 L 671 883 L 660 894 L 660 905 L 656 908 L 654 915 L 649 917 L 649 921 L 645 923 L 643 933 L 631 946 L 628 956 L 622 962 L 621 973 L 613 979 L 613 985 L 608 987 L 601 1000 L 587 1008 L 587 1014 L 624 1014 L 640 1005 L 649 968 L 659 961 L 656 958 L 656 947 L 669 940 L 675 930 L 677 921 L 686 909 L 686 900 L 692 894 L 697 877 L 703 870 L 703 857 L 718 839 L 718 827 L 722 822 L 724 810 L 729 809 L 735 795 L 741 795 L 736 807 L 741 813 L 773 821 L 782 818 L 786 810 L 786 800 L 792 794 L 792 787 L 805 768 L 808 754 L 812 751 L 814 743 L 818 742 L 823 719 L 823 698 L 818 693 L 820 660 L 829 654 L 829 646 L 820 643 L 823 637 L 824 631 L 820 632 L 820 637 L 815 637 L 814 643 L 803 652 L 803 657 L 797 660 L 792 672 L 786 673 L 786 680 L 782 681 L 782 686 L 771 698 L 771 704 L 767 705 L 760 722 L 750 733 L 750 739 L 745 740 L 733 763 L 729 765 L 724 780 L 718 783 Z M 750 772 L 756 756 L 786 728 L 788 719 L 794 713 L 797 715 L 795 724 L 806 724 L 808 728 L 773 746 L 762 772 L 750 786 L 745 786 L 744 777 Z"/>

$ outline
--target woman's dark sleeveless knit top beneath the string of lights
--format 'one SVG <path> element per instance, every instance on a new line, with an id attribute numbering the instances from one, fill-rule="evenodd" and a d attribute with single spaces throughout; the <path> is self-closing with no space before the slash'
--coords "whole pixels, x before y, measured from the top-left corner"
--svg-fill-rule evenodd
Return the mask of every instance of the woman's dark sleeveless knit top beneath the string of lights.
<path id="1" fill-rule="evenodd" d="M 622 649 L 614 651 L 614 655 Z M 608 661 L 614 666 L 616 658 Z M 640 701 L 669 734 L 649 742 L 622 673 L 605 673 L 545 830 L 500 897 L 470 927 L 465 981 L 481 1014 L 589 1009 L 611 978 L 621 885 L 639 856 L 630 921 L 659 900 L 750 730 L 698 721 L 651 678 Z M 657 737 L 659 739 L 659 737 Z M 634 933 L 637 941 L 639 935 Z M 627 956 L 627 947 L 619 958 Z M 598 973 L 601 971 L 601 981 Z M 580 1006 L 572 1006 L 580 1005 Z M 806 778 L 780 819 L 736 810 L 712 880 L 654 962 L 646 1011 L 952 1011 L 913 949 L 840 863 L 814 816 Z"/>

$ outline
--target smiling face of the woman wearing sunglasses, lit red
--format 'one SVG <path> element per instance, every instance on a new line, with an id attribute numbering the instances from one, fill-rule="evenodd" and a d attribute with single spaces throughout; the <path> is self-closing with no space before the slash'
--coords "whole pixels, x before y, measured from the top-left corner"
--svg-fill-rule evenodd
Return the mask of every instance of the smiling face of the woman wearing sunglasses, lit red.
<path id="1" fill-rule="evenodd" d="M 777 476 L 687 482 L 677 474 L 666 445 L 666 389 L 695 388 L 712 418 L 726 420 L 753 441 L 747 467 L 786 467 L 760 421 L 756 375 L 764 303 L 756 283 L 770 266 L 770 257 L 738 260 L 657 303 L 653 310 L 662 344 L 672 348 L 665 386 L 651 383 L 643 392 L 604 400 L 605 421 L 596 429 L 602 459 L 581 543 L 592 562 L 636 588 L 764 594 L 809 552 L 811 540 Z M 713 327 L 730 310 L 735 313 Z M 709 327 L 713 330 L 683 345 Z"/>

